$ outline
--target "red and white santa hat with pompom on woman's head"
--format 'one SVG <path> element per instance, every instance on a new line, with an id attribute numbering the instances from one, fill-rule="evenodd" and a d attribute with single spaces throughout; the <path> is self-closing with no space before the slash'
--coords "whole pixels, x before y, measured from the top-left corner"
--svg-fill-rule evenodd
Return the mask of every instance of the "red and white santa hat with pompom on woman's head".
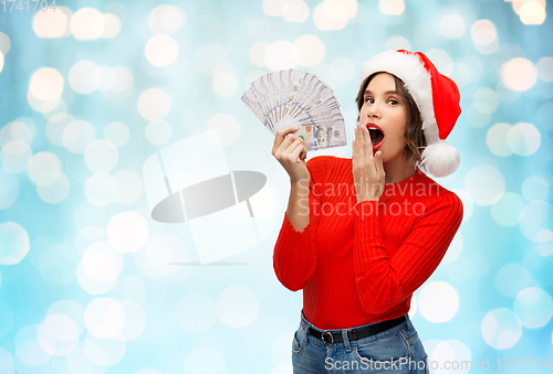
<path id="1" fill-rule="evenodd" d="M 444 141 L 461 114 L 459 88 L 455 82 L 438 73 L 421 52 L 397 50 L 379 53 L 363 64 L 358 89 L 369 75 L 377 72 L 400 78 L 417 103 L 427 143 L 420 164 L 435 177 L 455 172 L 461 158 L 455 147 Z"/>

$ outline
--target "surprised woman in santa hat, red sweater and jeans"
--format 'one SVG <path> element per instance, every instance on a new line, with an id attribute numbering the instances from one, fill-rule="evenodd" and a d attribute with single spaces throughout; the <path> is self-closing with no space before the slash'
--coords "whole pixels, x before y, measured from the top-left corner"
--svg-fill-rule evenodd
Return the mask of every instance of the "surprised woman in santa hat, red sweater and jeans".
<path id="1" fill-rule="evenodd" d="M 274 140 L 291 181 L 274 271 L 303 289 L 294 373 L 428 373 L 410 299 L 446 254 L 462 204 L 417 164 L 436 177 L 459 165 L 444 141 L 459 90 L 426 55 L 403 50 L 367 61 L 358 88 L 352 159 L 305 163 L 298 127 Z"/>

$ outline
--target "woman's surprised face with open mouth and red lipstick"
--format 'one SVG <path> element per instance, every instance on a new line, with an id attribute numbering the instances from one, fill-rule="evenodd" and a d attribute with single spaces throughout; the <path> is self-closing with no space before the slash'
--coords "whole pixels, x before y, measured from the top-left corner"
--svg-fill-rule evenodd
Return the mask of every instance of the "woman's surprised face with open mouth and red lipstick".
<path id="1" fill-rule="evenodd" d="M 372 138 L 377 136 L 376 143 L 373 140 L 373 152 L 382 151 L 384 163 L 394 160 L 396 162 L 404 161 L 403 150 L 406 146 L 404 131 L 407 125 L 407 110 L 390 74 L 377 74 L 368 83 L 364 93 L 359 122 L 367 127 L 382 129 L 383 133 L 377 130 L 369 130 L 369 132 Z"/>

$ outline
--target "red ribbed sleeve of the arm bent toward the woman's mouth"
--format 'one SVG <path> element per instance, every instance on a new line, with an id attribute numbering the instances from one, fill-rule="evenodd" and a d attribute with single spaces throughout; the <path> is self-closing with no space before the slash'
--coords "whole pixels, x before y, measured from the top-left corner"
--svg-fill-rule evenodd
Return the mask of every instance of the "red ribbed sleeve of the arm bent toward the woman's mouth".
<path id="1" fill-rule="evenodd" d="M 382 313 L 398 304 L 431 276 L 463 214 L 462 203 L 452 192 L 429 200 L 405 241 L 393 256 L 388 256 L 377 205 L 377 201 L 357 203 L 354 223 L 357 295 L 368 314 Z"/>

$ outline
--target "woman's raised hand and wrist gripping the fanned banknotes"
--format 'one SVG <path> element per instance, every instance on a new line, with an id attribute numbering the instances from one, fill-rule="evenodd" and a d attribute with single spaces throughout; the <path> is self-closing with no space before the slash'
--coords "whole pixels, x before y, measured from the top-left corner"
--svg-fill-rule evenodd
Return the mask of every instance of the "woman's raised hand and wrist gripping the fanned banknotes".
<path id="1" fill-rule="evenodd" d="M 301 180 L 310 180 L 310 172 L 305 164 L 307 146 L 302 139 L 290 133 L 299 129 L 299 126 L 289 125 L 276 131 L 272 150 L 274 158 L 286 170 L 292 183 Z"/>

